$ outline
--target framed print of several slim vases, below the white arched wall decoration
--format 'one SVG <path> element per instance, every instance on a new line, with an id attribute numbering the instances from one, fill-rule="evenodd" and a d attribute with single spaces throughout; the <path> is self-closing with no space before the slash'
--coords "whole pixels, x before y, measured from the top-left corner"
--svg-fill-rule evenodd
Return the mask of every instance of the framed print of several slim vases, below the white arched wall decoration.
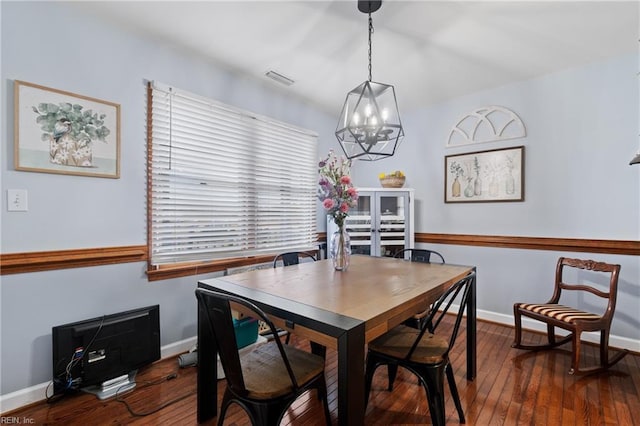
<path id="1" fill-rule="evenodd" d="M 444 202 L 524 201 L 524 146 L 444 157 Z"/>

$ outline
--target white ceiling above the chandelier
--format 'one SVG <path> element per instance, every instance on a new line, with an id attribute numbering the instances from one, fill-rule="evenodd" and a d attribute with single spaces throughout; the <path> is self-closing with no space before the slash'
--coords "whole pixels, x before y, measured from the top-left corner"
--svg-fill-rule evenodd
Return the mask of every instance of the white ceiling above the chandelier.
<path id="1" fill-rule="evenodd" d="M 355 0 L 74 2 L 338 114 L 368 78 Z M 400 111 L 638 52 L 637 1 L 401 1 L 374 12 L 373 81 Z M 295 83 L 264 76 L 274 70 Z M 267 83 L 268 82 L 268 83 Z"/>

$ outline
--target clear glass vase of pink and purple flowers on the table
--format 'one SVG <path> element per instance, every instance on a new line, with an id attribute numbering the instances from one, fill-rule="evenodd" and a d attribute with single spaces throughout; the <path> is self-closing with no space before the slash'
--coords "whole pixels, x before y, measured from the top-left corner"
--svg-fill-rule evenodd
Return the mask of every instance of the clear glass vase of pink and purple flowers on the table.
<path id="1" fill-rule="evenodd" d="M 346 271 L 351 259 L 351 240 L 345 228 L 349 209 L 358 202 L 358 190 L 351 182 L 351 161 L 338 158 L 333 150 L 318 163 L 318 199 L 338 230 L 330 241 L 329 254 L 337 271 Z"/>

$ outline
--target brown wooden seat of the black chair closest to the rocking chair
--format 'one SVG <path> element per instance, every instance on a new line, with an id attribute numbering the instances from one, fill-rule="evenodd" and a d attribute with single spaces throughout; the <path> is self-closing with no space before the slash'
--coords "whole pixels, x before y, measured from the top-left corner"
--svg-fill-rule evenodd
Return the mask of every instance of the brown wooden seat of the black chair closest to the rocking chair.
<path id="1" fill-rule="evenodd" d="M 372 351 L 395 358 L 405 358 L 416 342 L 420 330 L 406 325 L 399 325 L 378 337 L 371 343 Z M 411 353 L 409 361 L 435 364 L 442 360 L 442 356 L 449 350 L 449 342 L 442 336 L 425 333 L 415 351 Z"/>

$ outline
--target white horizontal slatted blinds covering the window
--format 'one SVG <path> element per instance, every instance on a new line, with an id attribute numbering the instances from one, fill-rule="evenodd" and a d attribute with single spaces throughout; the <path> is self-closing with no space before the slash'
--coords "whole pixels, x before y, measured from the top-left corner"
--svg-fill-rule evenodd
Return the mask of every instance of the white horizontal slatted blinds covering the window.
<path id="1" fill-rule="evenodd" d="M 150 90 L 152 266 L 317 247 L 315 133 Z"/>

